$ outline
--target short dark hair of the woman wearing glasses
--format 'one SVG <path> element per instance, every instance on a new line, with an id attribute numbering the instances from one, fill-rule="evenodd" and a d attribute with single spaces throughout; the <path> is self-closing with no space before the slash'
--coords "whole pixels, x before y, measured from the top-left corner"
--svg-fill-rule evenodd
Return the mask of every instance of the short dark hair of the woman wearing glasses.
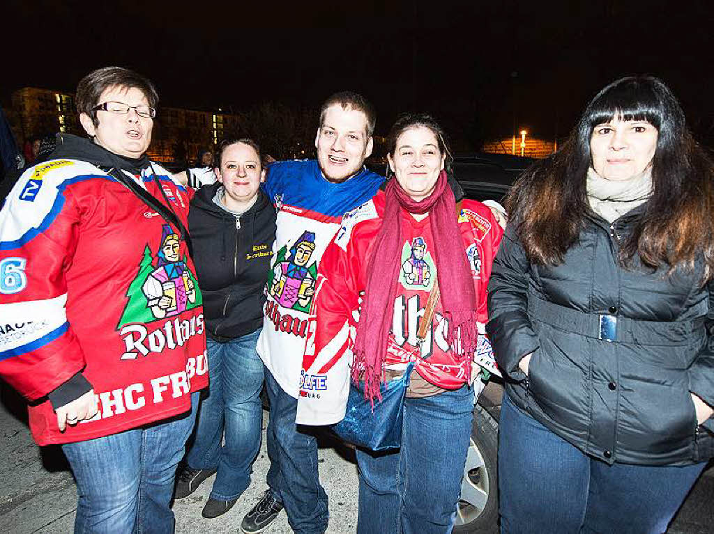
<path id="1" fill-rule="evenodd" d="M 104 93 L 109 87 L 139 89 L 149 101 L 149 106 L 156 108 L 159 104 L 159 93 L 156 92 L 156 86 L 149 78 L 124 67 L 98 68 L 79 81 L 74 97 L 77 113 L 89 115 L 95 126 L 99 124 L 99 120 L 96 118 L 94 107 L 100 103 L 101 93 Z"/>

